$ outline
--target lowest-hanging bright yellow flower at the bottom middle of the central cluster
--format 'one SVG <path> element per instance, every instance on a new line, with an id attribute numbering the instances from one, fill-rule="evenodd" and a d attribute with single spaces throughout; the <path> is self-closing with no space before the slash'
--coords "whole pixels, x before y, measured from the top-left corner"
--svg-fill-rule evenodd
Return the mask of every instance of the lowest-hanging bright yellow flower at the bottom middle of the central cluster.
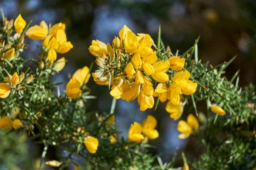
<path id="1" fill-rule="evenodd" d="M 141 111 L 145 111 L 147 108 L 152 108 L 154 106 L 154 97 L 146 96 L 143 90 L 141 90 L 138 95 L 138 105 L 140 105 Z"/>

